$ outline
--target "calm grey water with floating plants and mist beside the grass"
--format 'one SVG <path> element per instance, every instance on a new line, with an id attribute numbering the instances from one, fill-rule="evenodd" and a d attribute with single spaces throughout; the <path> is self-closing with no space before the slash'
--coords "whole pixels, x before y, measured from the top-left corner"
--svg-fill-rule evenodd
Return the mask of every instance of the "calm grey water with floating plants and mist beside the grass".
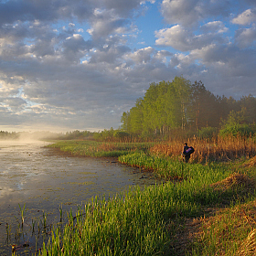
<path id="1" fill-rule="evenodd" d="M 60 206 L 67 216 L 91 197 L 113 197 L 128 187 L 157 182 L 112 160 L 59 155 L 47 144 L 0 141 L 0 255 L 11 255 L 12 244 L 18 255 L 36 251 L 48 240 L 50 225 L 59 222 Z M 48 229 L 43 230 L 44 220 Z"/>

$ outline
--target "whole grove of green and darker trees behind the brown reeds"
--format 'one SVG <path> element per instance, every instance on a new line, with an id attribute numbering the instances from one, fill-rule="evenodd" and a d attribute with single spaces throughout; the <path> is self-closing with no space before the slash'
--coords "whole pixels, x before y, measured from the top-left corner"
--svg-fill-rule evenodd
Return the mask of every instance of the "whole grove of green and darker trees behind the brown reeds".
<path id="1" fill-rule="evenodd" d="M 215 96 L 201 81 L 183 77 L 151 83 L 144 98 L 123 112 L 122 131 L 138 137 L 164 137 L 174 133 L 253 133 L 256 99 Z M 231 129 L 231 126 L 236 126 Z M 227 130 L 228 129 L 228 130 Z M 223 131 L 225 130 L 225 131 Z"/>

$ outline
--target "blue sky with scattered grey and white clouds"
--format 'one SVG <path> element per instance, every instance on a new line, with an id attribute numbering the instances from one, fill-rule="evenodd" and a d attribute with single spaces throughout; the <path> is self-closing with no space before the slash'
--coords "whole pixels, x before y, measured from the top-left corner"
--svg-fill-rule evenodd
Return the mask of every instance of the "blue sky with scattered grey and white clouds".
<path id="1" fill-rule="evenodd" d="M 256 97 L 255 0 L 0 0 L 0 130 L 118 129 L 152 82 Z"/>

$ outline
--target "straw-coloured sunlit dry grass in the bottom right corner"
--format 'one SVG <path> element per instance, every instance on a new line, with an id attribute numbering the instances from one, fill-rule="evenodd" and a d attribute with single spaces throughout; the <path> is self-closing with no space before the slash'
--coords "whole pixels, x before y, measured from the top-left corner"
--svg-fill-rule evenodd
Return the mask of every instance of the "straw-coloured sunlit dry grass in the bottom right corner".
<path id="1" fill-rule="evenodd" d="M 255 203 L 253 199 L 202 219 L 190 255 L 255 255 Z"/>

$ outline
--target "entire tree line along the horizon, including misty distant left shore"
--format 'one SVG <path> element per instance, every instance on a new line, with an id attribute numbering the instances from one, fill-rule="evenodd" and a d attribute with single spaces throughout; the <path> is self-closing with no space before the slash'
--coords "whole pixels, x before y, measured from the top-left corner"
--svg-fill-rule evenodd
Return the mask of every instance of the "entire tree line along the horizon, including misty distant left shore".
<path id="1" fill-rule="evenodd" d="M 193 84 L 185 78 L 151 83 L 144 98 L 130 111 L 123 112 L 121 127 L 99 132 L 72 131 L 4 132 L 0 140 L 30 138 L 58 140 L 133 141 L 173 137 L 210 138 L 213 135 L 256 135 L 256 98 L 251 94 L 239 101 L 215 96 L 202 81 Z"/>

